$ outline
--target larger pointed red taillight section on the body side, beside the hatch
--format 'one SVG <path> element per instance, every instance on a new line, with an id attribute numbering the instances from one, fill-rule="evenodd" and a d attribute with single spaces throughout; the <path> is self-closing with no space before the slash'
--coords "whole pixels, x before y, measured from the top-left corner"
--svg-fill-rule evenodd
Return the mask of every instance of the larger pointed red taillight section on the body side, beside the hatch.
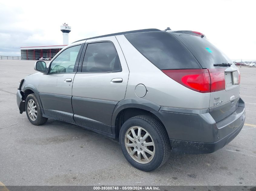
<path id="1" fill-rule="evenodd" d="M 162 70 L 162 72 L 191 90 L 210 92 L 211 80 L 207 69 Z"/>

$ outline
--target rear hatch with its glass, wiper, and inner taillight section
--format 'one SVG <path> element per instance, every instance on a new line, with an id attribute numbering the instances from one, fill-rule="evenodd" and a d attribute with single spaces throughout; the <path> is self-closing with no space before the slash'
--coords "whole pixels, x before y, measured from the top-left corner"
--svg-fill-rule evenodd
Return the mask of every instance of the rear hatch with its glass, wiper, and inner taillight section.
<path id="1" fill-rule="evenodd" d="M 175 31 L 171 34 L 189 49 L 202 68 L 208 69 L 211 89 L 213 89 L 209 103 L 210 114 L 216 122 L 219 122 L 238 107 L 240 72 L 234 63 L 203 34 L 193 33 L 193 31 Z"/>

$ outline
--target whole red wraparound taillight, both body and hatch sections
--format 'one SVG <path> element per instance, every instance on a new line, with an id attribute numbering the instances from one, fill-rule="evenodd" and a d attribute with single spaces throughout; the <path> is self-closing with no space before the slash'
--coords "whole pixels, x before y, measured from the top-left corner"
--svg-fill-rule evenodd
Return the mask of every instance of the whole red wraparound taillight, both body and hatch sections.
<path id="1" fill-rule="evenodd" d="M 225 69 L 181 69 L 162 72 L 191 90 L 209 93 L 225 89 Z"/>

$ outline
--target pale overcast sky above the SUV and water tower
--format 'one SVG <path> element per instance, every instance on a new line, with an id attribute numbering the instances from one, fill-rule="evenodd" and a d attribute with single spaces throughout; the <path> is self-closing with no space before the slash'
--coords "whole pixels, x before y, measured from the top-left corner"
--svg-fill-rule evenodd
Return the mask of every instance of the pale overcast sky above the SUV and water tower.
<path id="1" fill-rule="evenodd" d="M 128 30 L 194 30 L 231 59 L 256 59 L 256 3 L 243 1 L 5 1 L 0 2 L 0 55 L 20 56 L 21 46 L 61 45 Z"/>

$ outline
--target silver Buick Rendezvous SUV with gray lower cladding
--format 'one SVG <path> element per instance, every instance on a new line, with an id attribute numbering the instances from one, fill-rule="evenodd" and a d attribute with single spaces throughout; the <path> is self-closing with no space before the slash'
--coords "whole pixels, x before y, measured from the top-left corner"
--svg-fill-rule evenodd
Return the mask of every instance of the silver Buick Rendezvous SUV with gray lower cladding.
<path id="1" fill-rule="evenodd" d="M 134 167 L 150 171 L 170 153 L 211 153 L 244 125 L 240 72 L 194 31 L 145 29 L 83 39 L 21 80 L 20 113 L 111 138 Z"/>

